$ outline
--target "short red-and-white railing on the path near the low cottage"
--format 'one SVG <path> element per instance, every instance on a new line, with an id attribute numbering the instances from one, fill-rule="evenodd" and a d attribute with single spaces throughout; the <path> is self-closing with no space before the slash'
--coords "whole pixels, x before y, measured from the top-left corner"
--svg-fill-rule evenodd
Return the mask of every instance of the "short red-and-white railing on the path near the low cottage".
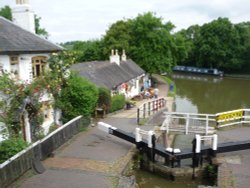
<path id="1" fill-rule="evenodd" d="M 143 103 L 139 108 L 137 108 L 137 124 L 141 124 L 142 120 L 145 120 L 157 111 L 166 108 L 166 103 L 167 100 L 165 98 L 150 100 Z"/>

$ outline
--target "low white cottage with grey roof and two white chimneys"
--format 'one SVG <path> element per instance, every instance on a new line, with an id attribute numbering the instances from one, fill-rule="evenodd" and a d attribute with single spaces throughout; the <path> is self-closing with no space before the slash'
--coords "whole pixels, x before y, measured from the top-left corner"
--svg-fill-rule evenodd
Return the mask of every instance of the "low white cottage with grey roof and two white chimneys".
<path id="1" fill-rule="evenodd" d="M 99 87 L 106 87 L 113 93 L 132 98 L 140 93 L 145 80 L 145 71 L 125 51 L 120 56 L 112 50 L 109 61 L 92 61 L 72 65 L 71 70 L 92 81 Z"/>

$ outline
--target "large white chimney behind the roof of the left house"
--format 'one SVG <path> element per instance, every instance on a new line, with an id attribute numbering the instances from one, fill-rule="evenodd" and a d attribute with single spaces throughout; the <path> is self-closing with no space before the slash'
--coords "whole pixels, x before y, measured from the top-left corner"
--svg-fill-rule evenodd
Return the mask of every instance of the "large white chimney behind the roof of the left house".
<path id="1" fill-rule="evenodd" d="M 29 0 L 16 0 L 12 8 L 13 23 L 35 33 L 35 14 L 29 5 Z"/>

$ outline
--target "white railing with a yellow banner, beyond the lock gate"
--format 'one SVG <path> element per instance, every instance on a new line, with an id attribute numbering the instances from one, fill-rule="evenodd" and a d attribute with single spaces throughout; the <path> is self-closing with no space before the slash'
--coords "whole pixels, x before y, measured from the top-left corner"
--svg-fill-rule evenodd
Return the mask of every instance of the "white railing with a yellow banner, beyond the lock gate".
<path id="1" fill-rule="evenodd" d="M 250 109 L 238 109 L 217 114 L 165 112 L 161 130 L 213 134 L 214 128 L 250 124 Z"/>

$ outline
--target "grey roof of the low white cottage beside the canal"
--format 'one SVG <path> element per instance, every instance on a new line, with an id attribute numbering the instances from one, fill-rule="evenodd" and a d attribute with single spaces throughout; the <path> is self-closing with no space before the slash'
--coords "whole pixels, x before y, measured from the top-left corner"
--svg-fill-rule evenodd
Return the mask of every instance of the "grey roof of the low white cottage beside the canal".
<path id="1" fill-rule="evenodd" d="M 135 62 L 127 60 L 120 65 L 109 61 L 92 61 L 74 64 L 71 70 L 92 81 L 99 87 L 112 89 L 145 73 Z"/>

